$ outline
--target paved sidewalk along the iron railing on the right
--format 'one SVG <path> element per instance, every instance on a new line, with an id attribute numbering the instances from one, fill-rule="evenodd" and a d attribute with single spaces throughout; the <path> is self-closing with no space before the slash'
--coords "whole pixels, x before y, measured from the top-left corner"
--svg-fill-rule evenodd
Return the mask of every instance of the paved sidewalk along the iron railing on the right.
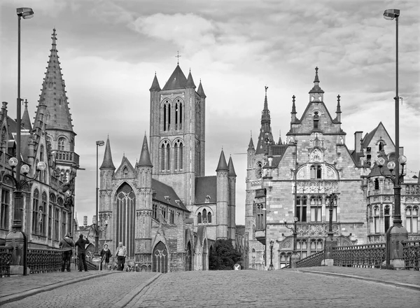
<path id="1" fill-rule="evenodd" d="M 286 269 L 309 274 L 322 274 L 330 276 L 341 276 L 343 278 L 360 279 L 386 283 L 402 288 L 411 288 L 420 291 L 420 272 L 407 270 L 374 269 L 360 267 L 338 267 L 318 266 L 299 267 L 297 269 Z"/>

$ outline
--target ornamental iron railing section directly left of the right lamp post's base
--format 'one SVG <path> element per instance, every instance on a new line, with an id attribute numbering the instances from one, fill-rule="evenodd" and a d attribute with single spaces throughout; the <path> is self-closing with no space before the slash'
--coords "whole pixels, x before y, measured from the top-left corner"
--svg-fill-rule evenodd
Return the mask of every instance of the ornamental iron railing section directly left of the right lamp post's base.
<path id="1" fill-rule="evenodd" d="M 332 248 L 335 266 L 380 268 L 385 261 L 385 243 Z"/>

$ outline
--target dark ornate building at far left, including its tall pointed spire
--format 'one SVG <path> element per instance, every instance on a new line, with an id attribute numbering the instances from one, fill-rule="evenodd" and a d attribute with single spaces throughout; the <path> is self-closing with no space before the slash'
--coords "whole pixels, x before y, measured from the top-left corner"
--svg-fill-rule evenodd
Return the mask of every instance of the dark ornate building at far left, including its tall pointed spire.
<path id="1" fill-rule="evenodd" d="M 71 125 L 69 103 L 58 61 L 57 36 L 52 33 L 52 48 L 43 79 L 36 116 L 31 124 L 28 102 L 21 118 L 21 127 L 7 113 L 7 103 L 1 109 L 0 241 L 12 228 L 15 182 L 8 160 L 20 155 L 22 165 L 29 166 L 29 181 L 23 188 L 22 231 L 27 234 L 28 246 L 58 248 L 66 232 L 73 233 L 73 192 L 78 169 L 78 155 L 74 152 L 76 134 Z M 16 134 L 20 131 L 21 153 L 16 153 Z M 46 169 L 36 173 L 38 162 Z M 65 194 L 67 192 L 67 194 Z"/>

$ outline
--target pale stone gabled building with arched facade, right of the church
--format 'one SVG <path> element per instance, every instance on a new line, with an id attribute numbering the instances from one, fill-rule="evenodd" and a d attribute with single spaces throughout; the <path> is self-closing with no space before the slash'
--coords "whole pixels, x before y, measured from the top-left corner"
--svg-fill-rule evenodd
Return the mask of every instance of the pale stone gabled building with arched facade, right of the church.
<path id="1" fill-rule="evenodd" d="M 262 269 L 269 264 L 266 243 L 271 240 L 274 269 L 288 265 L 294 243 L 293 232 L 287 227 L 293 227 L 294 221 L 300 257 L 321 251 L 329 228 L 331 193 L 335 193 L 332 231 L 339 246 L 383 241 L 386 228 L 393 223 L 393 185 L 375 164 L 379 156 L 393 159 L 393 141 L 380 123 L 363 139 L 362 132 L 356 132 L 355 148 L 350 151 L 341 127 L 340 97 L 333 117 L 319 83 L 316 68 L 314 87 L 301 118 L 297 118 L 293 96 L 286 143 L 280 140 L 274 144 L 270 138 L 266 103 L 257 149 L 251 137 L 246 178 L 249 267 Z M 419 184 L 403 184 L 402 191 L 407 192 L 402 193 L 404 224 L 410 237 L 418 238 Z"/>

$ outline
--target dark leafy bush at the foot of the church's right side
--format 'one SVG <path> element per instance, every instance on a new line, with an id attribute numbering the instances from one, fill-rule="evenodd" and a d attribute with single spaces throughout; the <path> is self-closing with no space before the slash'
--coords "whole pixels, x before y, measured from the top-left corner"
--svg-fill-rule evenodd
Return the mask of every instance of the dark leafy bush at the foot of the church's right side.
<path id="1" fill-rule="evenodd" d="M 241 253 L 233 248 L 232 239 L 218 239 L 209 255 L 209 269 L 233 269 L 241 261 Z"/>

